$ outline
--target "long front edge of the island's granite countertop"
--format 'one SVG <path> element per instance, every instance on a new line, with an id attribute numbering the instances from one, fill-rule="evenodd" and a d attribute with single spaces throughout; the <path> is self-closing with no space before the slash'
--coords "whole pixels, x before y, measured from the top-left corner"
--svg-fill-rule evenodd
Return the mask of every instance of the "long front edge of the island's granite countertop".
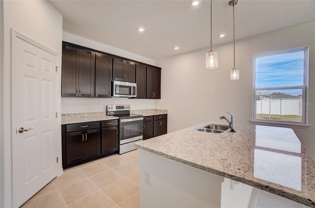
<path id="1" fill-rule="evenodd" d="M 191 167 L 198 168 L 200 170 L 204 170 L 204 171 L 207 171 L 209 173 L 212 173 L 212 174 L 215 174 L 215 175 L 218 175 L 218 176 L 229 178 L 229 179 L 232 179 L 232 180 L 235 180 L 235 181 L 238 181 L 238 182 L 250 185 L 252 187 L 255 187 L 255 188 L 267 191 L 269 193 L 276 194 L 278 196 L 282 196 L 282 197 L 284 197 L 286 199 L 289 199 L 289 200 L 292 200 L 292 198 L 293 198 L 295 200 L 292 200 L 292 201 L 295 201 L 295 202 L 304 204 L 306 206 L 310 206 L 310 207 L 315 208 L 315 202 L 312 202 L 309 199 L 302 198 L 302 197 L 297 196 L 297 195 L 292 194 L 292 193 L 284 192 L 281 189 L 277 189 L 277 188 L 273 188 L 273 187 L 270 187 L 270 186 L 266 186 L 266 185 L 261 184 L 259 182 L 254 182 L 252 180 L 248 180 L 248 179 L 245 179 L 245 178 L 240 178 L 240 177 L 237 177 L 237 176 L 233 176 L 233 175 L 224 173 L 222 171 L 218 171 L 218 170 L 213 169 L 213 168 L 209 168 L 209 167 L 205 167 L 205 166 L 202 166 L 202 165 L 198 165 L 196 163 L 189 162 L 187 160 L 184 160 L 184 159 L 181 159 L 181 158 L 178 158 L 178 157 L 175 157 L 175 156 L 171 156 L 171 155 L 159 152 L 159 151 L 155 151 L 153 149 L 145 148 L 145 147 L 140 146 L 138 144 L 135 144 L 135 147 L 137 147 L 139 149 L 143 149 L 143 150 L 149 151 L 149 152 L 157 154 L 159 156 L 162 156 L 162 157 L 165 157 L 165 158 L 168 158 L 168 159 L 171 159 L 171 160 L 174 160 L 174 161 L 177 161 L 177 162 L 189 165 Z"/>

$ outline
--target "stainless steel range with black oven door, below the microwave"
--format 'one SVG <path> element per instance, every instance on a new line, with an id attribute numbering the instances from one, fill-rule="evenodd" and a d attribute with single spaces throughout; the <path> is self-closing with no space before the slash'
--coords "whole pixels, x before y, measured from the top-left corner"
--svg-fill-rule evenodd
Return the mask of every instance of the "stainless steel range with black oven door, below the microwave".
<path id="1" fill-rule="evenodd" d="M 130 105 L 108 105 L 107 116 L 119 117 L 119 154 L 137 149 L 134 143 L 142 141 L 143 117 L 130 114 Z"/>

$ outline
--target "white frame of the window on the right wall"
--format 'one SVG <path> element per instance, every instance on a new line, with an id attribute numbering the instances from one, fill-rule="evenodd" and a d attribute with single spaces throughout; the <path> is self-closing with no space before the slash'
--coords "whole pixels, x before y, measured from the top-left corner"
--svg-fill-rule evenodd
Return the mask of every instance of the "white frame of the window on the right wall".
<path id="1" fill-rule="evenodd" d="M 288 54 L 304 51 L 304 67 L 303 67 L 303 86 L 291 86 L 291 87 L 263 87 L 256 88 L 256 59 L 262 57 L 276 56 L 281 54 Z M 298 48 L 285 49 L 281 51 L 269 52 L 264 54 L 258 54 L 253 56 L 253 108 L 252 108 L 252 123 L 253 124 L 267 124 L 273 126 L 283 127 L 296 127 L 296 126 L 308 126 L 307 125 L 307 112 L 308 112 L 308 73 L 309 73 L 309 46 L 303 46 Z M 302 89 L 302 120 L 301 122 L 292 121 L 277 121 L 256 119 L 256 91 L 257 90 L 273 90 L 273 89 Z"/>

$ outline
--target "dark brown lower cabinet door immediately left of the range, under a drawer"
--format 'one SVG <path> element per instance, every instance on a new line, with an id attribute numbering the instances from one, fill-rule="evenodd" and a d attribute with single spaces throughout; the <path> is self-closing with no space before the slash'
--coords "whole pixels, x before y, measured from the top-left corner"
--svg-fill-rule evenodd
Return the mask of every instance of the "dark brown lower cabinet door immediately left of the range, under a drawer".
<path id="1" fill-rule="evenodd" d="M 102 128 L 102 154 L 118 150 L 118 126 Z"/>

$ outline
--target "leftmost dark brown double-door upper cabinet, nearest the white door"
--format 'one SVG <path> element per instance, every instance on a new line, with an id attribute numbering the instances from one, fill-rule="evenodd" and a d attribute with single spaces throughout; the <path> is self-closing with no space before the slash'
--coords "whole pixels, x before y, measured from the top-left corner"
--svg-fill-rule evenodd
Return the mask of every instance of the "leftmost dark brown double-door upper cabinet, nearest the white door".
<path id="1" fill-rule="evenodd" d="M 62 96 L 95 96 L 95 52 L 63 44 Z"/>

